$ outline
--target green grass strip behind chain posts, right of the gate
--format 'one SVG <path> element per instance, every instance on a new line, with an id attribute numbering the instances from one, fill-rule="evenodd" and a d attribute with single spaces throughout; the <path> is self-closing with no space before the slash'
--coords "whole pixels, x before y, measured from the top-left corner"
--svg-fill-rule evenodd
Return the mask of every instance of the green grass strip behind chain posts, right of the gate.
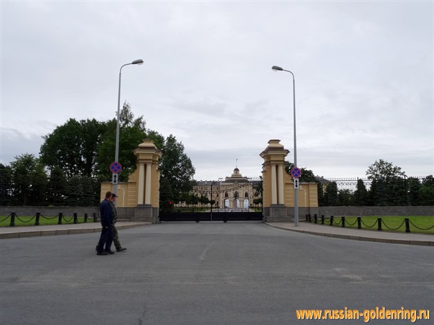
<path id="1" fill-rule="evenodd" d="M 362 228 L 371 230 L 378 229 L 378 218 L 381 218 L 381 229 L 383 229 L 383 231 L 405 232 L 406 224 L 404 219 L 408 218 L 410 220 L 410 232 L 434 234 L 434 216 L 362 216 Z M 318 218 L 318 223 L 320 223 L 320 221 L 321 219 Z M 329 222 L 329 218 L 325 218 L 324 225 L 328 225 Z M 333 225 L 335 227 L 341 227 L 341 218 L 334 217 Z M 357 217 L 345 216 L 345 227 L 357 228 Z"/>

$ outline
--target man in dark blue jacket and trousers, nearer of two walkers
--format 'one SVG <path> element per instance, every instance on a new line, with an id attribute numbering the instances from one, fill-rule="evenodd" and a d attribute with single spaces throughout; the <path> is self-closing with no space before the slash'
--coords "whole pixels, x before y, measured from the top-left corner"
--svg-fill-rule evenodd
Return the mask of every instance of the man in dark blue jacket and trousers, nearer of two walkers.
<path id="1" fill-rule="evenodd" d="M 98 246 L 96 246 L 96 255 L 114 254 L 114 252 L 112 251 L 113 212 L 112 206 L 110 205 L 111 197 L 112 192 L 108 191 L 107 193 L 105 193 L 105 199 L 99 205 L 100 220 L 103 229 L 101 229 L 101 236 L 99 238 Z"/>

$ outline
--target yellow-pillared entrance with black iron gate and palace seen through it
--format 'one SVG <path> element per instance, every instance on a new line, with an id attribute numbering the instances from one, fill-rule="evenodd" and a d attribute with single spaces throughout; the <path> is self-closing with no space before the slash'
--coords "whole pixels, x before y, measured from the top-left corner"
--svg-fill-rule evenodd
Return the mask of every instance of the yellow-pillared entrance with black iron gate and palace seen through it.
<path id="1" fill-rule="evenodd" d="M 230 177 L 212 182 L 198 182 L 190 196 L 173 202 L 171 211 L 159 211 L 159 169 L 161 152 L 152 140 L 146 139 L 134 155 L 137 169 L 128 182 L 118 184 L 118 216 L 132 221 L 164 220 L 263 220 L 292 222 L 294 218 L 294 183 L 284 170 L 288 150 L 280 140 L 268 141 L 263 152 L 262 179 L 243 177 L 236 167 Z M 316 183 L 300 183 L 300 214 L 318 213 Z M 101 184 L 101 200 L 113 184 Z"/>

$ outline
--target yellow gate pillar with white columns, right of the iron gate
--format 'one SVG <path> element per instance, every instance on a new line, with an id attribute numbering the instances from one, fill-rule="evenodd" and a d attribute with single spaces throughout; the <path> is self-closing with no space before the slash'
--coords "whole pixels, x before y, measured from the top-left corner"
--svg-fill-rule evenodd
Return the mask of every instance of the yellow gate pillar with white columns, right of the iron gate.
<path id="1" fill-rule="evenodd" d="M 288 216 L 284 193 L 284 164 L 286 150 L 280 140 L 268 141 L 268 146 L 261 152 L 263 158 L 263 220 L 265 222 L 290 222 L 293 216 Z"/>

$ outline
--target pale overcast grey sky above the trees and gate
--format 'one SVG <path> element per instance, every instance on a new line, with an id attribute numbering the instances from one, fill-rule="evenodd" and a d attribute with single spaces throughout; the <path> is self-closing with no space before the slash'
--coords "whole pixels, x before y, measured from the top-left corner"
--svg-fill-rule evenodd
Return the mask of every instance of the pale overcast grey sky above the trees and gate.
<path id="1" fill-rule="evenodd" d="M 195 179 L 297 165 L 364 177 L 379 159 L 434 173 L 433 1 L 1 1 L 1 159 L 121 103 L 182 141 Z M 114 136 L 114 135 L 113 135 Z M 122 134 L 121 134 L 122 137 Z M 114 156 L 114 154 L 113 154 Z M 114 157 L 113 157 L 114 158 Z M 238 159 L 238 161 L 236 161 Z"/>

